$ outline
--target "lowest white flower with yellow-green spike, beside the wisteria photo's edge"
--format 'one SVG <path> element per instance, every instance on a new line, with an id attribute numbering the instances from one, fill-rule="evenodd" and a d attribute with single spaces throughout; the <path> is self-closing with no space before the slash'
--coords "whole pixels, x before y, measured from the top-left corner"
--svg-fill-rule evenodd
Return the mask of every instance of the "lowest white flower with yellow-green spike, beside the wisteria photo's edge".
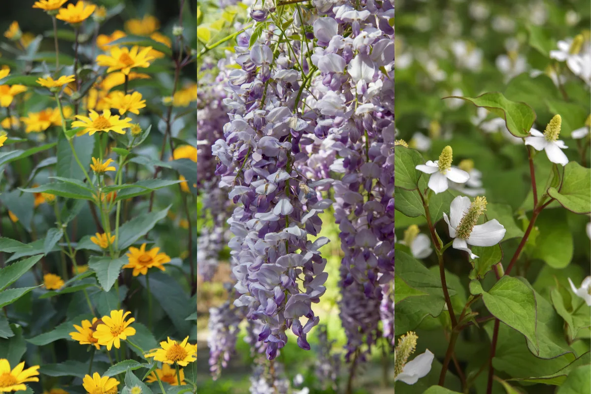
<path id="1" fill-rule="evenodd" d="M 434 354 L 428 349 L 410 362 L 408 357 L 414 353 L 417 346 L 417 334 L 410 331 L 398 339 L 394 349 L 394 381 L 401 380 L 407 385 L 414 385 L 418 379 L 426 376 L 431 370 Z"/>

